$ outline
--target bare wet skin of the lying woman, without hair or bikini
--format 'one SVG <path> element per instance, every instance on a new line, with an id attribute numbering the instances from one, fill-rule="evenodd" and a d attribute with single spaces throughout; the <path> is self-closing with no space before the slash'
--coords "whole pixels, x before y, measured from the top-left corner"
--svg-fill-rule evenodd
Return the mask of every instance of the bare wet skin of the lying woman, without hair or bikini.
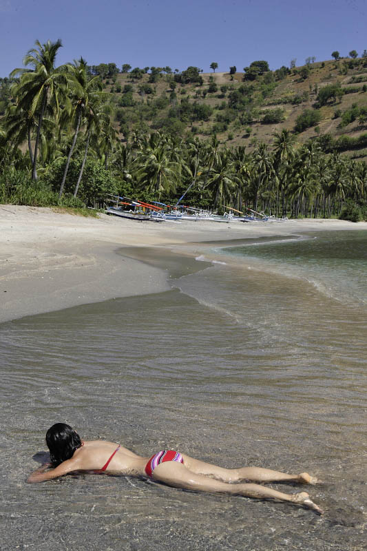
<path id="1" fill-rule="evenodd" d="M 81 448 L 75 450 L 71 459 L 63 461 L 56 468 L 50 468 L 51 464 L 49 463 L 43 464 L 30 474 L 27 481 L 31 483 L 43 482 L 62 477 L 74 471 L 98 472 L 117 447 L 118 444 L 109 441 L 83 441 Z M 193 459 L 189 455 L 182 454 L 182 457 L 183 464 L 177 461 L 166 461 L 156 466 L 152 478 L 174 488 L 286 501 L 322 513 L 322 510 L 309 499 L 306 492 L 285 494 L 260 484 L 249 484 L 248 482 L 315 484 L 317 480 L 310 477 L 306 472 L 300 475 L 290 475 L 260 467 L 226 469 Z M 148 461 L 149 457 L 141 457 L 121 446 L 112 457 L 105 472 L 129 477 L 146 477 L 145 466 Z"/>

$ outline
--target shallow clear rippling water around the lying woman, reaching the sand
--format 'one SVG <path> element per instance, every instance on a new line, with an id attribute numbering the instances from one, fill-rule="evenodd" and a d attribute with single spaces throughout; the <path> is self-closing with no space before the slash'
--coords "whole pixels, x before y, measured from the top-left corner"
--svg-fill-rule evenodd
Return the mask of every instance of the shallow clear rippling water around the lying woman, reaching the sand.
<path id="1" fill-rule="evenodd" d="M 2 324 L 1 547 L 363 549 L 364 236 L 208 246 L 216 264 L 125 250 L 173 290 Z M 326 514 L 124 477 L 24 484 L 57 421 L 142 455 L 309 470 Z"/>

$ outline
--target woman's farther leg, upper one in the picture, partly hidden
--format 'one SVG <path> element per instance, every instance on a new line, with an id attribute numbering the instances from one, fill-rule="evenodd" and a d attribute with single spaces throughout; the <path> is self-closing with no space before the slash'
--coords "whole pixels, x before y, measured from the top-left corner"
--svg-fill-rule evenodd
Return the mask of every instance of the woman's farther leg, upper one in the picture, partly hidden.
<path id="1" fill-rule="evenodd" d="M 199 459 L 193 459 L 183 454 L 185 466 L 198 475 L 207 475 L 223 482 L 240 482 L 251 480 L 255 482 L 299 482 L 300 484 L 315 484 L 317 479 L 302 472 L 300 475 L 288 475 L 286 472 L 264 469 L 262 467 L 241 467 L 236 469 L 225 469 Z"/>

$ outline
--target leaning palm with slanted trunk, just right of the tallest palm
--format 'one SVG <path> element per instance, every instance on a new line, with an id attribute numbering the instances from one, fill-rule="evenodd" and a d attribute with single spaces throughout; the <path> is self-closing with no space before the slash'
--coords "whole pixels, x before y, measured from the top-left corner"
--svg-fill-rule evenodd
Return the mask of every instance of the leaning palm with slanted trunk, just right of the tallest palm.
<path id="1" fill-rule="evenodd" d="M 67 155 L 63 179 L 61 180 L 59 197 L 63 195 L 67 170 L 69 169 L 70 159 L 76 144 L 76 138 L 81 126 L 82 117 L 88 111 L 93 113 L 96 111 L 96 106 L 100 101 L 96 88 L 101 89 L 101 81 L 98 76 L 89 79 L 87 75 L 87 62 L 83 57 L 78 61 L 74 61 L 74 65 L 67 65 L 68 81 L 70 84 L 70 93 L 66 101 L 65 114 L 71 114 L 71 119 L 75 123 L 75 132 L 72 145 Z M 70 113 L 70 111 L 72 112 Z"/>

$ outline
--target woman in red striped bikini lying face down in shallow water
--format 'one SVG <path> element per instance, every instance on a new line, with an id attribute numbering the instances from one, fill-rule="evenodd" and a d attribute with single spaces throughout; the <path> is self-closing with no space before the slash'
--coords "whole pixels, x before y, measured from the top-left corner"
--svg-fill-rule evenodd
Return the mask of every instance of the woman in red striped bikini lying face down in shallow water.
<path id="1" fill-rule="evenodd" d="M 150 458 L 140 457 L 114 442 L 83 441 L 75 430 L 65 423 L 56 423 L 49 428 L 46 443 L 50 450 L 51 463 L 43 464 L 32 472 L 28 482 L 43 482 L 76 470 L 107 472 L 128 477 L 150 477 L 168 486 L 185 490 L 285 501 L 322 513 L 306 492 L 284 494 L 260 484 L 243 483 L 255 481 L 315 484 L 317 480 L 307 472 L 287 475 L 284 472 L 260 467 L 226 469 L 173 450 L 160 451 Z"/>

